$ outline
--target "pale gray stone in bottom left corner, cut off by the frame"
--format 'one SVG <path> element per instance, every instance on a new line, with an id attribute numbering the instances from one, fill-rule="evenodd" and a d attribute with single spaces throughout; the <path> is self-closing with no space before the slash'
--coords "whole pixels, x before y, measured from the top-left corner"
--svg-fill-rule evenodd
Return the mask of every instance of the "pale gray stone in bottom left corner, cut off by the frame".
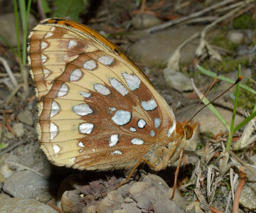
<path id="1" fill-rule="evenodd" d="M 0 198 L 1 213 L 57 213 L 49 205 L 43 204 L 34 199 L 8 198 L 1 196 Z"/>

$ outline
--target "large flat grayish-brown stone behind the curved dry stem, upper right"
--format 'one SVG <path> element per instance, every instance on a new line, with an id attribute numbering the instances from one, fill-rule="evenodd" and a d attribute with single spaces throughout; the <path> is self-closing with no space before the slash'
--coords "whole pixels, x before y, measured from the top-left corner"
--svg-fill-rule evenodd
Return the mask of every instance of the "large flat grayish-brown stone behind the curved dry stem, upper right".
<path id="1" fill-rule="evenodd" d="M 148 66 L 156 66 L 168 61 L 180 44 L 191 35 L 203 30 L 203 26 L 181 26 L 171 27 L 167 30 L 154 34 L 147 34 L 141 40 L 133 44 L 129 54 L 134 60 L 140 61 Z M 219 34 L 219 30 L 212 31 L 208 37 Z M 208 38 L 207 37 L 207 38 Z M 186 44 L 181 49 L 180 63 L 191 63 L 196 56 L 196 48 L 199 45 L 199 38 Z"/>

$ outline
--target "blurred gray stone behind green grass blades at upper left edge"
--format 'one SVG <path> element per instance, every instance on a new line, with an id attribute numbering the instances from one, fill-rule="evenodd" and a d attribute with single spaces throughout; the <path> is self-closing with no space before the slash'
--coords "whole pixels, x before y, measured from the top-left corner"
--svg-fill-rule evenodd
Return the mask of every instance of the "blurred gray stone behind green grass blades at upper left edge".
<path id="1" fill-rule="evenodd" d="M 20 30 L 20 44 L 23 44 L 23 32 L 22 32 L 22 24 L 21 18 L 19 16 L 19 30 Z M 38 24 L 36 18 L 33 15 L 29 15 L 28 17 L 28 32 L 32 30 Z M 15 15 L 14 13 L 0 15 L 0 28 L 1 35 L 4 36 L 11 46 L 17 47 L 17 38 L 16 38 L 16 28 L 15 28 Z M 0 40 L 0 44 L 6 46 L 6 44 Z"/>

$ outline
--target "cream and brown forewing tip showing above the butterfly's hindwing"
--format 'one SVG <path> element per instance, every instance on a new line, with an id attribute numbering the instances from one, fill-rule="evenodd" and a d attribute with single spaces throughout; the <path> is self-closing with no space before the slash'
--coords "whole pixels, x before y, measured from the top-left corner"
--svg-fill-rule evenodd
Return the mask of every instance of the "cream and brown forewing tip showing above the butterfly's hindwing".
<path id="1" fill-rule="evenodd" d="M 53 80 L 64 72 L 66 63 L 76 59 L 82 52 L 98 50 L 72 31 L 50 25 L 37 25 L 28 40 L 28 65 L 39 98 L 52 88 Z"/>

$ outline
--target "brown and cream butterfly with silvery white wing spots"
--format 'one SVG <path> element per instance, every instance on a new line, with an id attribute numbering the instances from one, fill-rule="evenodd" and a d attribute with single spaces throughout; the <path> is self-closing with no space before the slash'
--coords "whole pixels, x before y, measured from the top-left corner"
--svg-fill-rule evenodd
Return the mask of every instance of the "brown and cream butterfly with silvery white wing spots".
<path id="1" fill-rule="evenodd" d="M 28 37 L 28 66 L 39 98 L 40 148 L 57 166 L 159 171 L 196 131 L 178 122 L 150 80 L 115 44 L 62 18 Z"/>

